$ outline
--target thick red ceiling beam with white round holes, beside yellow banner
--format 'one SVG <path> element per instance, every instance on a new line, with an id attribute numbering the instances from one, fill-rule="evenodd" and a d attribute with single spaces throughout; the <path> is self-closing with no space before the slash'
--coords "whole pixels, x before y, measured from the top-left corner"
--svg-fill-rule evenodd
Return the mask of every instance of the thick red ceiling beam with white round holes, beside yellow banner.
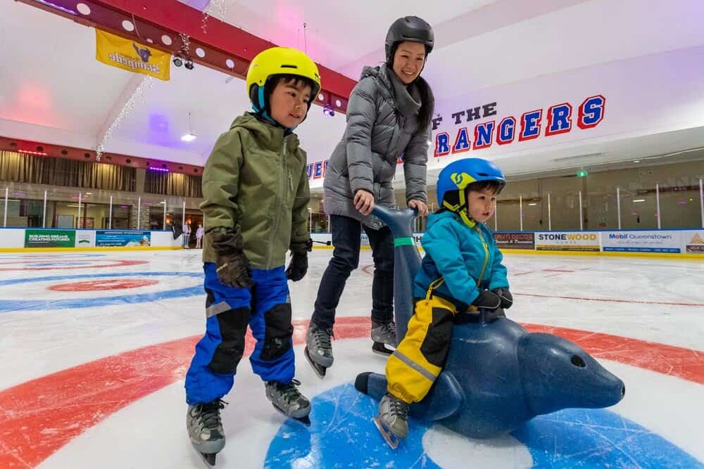
<path id="1" fill-rule="evenodd" d="M 187 56 L 194 63 L 240 78 L 246 75 L 254 56 L 276 45 L 218 18 L 205 20 L 203 12 L 176 0 L 17 1 L 173 55 Z M 318 68 L 322 96 L 315 102 L 345 113 L 356 82 L 323 65 L 318 64 Z"/>

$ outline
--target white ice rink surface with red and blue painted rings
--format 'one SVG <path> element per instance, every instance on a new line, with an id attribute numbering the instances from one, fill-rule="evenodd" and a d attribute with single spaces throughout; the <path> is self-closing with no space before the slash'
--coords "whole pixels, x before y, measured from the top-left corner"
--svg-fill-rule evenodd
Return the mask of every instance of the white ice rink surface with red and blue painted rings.
<path id="1" fill-rule="evenodd" d="M 369 338 L 370 251 L 342 297 L 325 380 L 303 358 L 331 253 L 315 250 L 308 276 L 289 283 L 313 425 L 272 409 L 245 358 L 225 397 L 217 467 L 704 467 L 704 262 L 506 253 L 510 319 L 576 342 L 624 380 L 626 397 L 489 441 L 412 420 L 393 452 L 372 423 L 375 402 L 352 385 L 384 371 Z M 205 326 L 200 254 L 0 255 L 0 468 L 205 466 L 187 437 L 183 390 Z"/>

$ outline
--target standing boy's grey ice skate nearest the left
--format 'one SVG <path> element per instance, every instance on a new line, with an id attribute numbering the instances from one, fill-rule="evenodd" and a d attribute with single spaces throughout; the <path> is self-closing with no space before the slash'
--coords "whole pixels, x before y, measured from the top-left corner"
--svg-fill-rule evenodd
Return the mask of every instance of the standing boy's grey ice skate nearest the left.
<path id="1" fill-rule="evenodd" d="M 225 447 L 225 430 L 220 421 L 220 409 L 227 402 L 215 399 L 206 404 L 188 406 L 186 428 L 191 444 L 209 465 L 215 465 L 215 455 Z"/>

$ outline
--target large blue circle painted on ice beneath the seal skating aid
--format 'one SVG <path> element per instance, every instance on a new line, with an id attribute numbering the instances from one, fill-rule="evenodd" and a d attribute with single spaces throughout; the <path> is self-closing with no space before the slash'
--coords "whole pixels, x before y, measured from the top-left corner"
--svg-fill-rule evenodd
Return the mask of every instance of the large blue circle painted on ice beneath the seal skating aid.
<path id="1" fill-rule="evenodd" d="M 327 390 L 312 404 L 310 428 L 284 422 L 269 446 L 265 468 L 439 468 L 423 449 L 431 425 L 412 419 L 408 437 L 392 450 L 372 422 L 377 402 L 352 385 Z M 660 435 L 603 409 L 538 416 L 511 435 L 526 446 L 533 468 L 704 467 Z M 465 463 L 470 467 L 470 461 Z"/>

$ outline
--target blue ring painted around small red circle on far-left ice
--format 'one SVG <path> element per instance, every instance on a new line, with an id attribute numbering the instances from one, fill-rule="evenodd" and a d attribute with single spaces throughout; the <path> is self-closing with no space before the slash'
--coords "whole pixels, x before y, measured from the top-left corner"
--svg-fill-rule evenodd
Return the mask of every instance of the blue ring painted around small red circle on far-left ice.
<path id="1" fill-rule="evenodd" d="M 86 278 L 94 280 L 96 278 L 115 278 L 115 277 L 154 277 L 154 276 L 170 276 L 170 277 L 193 277 L 203 278 L 202 272 L 120 272 L 116 274 L 82 274 L 82 275 L 61 275 L 54 277 L 35 277 L 35 278 L 13 278 L 11 280 L 0 281 L 0 287 L 7 285 L 18 285 L 20 283 L 30 282 L 48 282 L 56 280 L 80 280 Z M 20 311 L 23 309 L 68 309 L 68 308 L 86 308 L 108 306 L 111 304 L 125 303 L 144 303 L 158 300 L 168 300 L 170 298 L 185 298 L 203 294 L 203 285 L 199 283 L 192 287 L 175 288 L 172 290 L 159 290 L 152 293 L 139 293 L 137 295 L 117 295 L 110 297 L 84 297 L 84 298 L 68 298 L 68 299 L 46 299 L 46 300 L 0 300 L 0 313 L 8 311 Z"/>

